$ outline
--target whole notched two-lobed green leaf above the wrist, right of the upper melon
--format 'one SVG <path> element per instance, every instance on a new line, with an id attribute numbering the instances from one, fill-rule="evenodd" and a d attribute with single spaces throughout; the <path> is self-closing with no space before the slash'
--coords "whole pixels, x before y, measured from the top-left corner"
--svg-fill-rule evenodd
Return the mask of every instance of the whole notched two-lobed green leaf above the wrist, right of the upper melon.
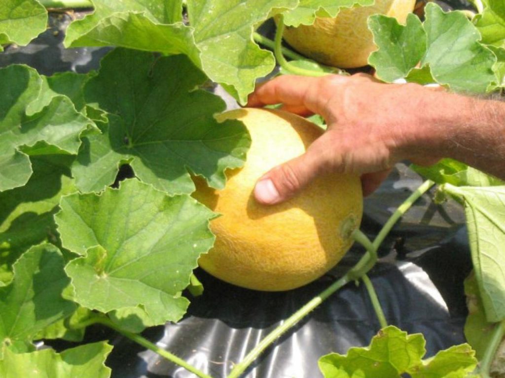
<path id="1" fill-rule="evenodd" d="M 411 15 L 406 26 L 386 16 L 370 17 L 369 27 L 379 49 L 370 55 L 369 63 L 377 76 L 387 82 L 407 79 L 422 84 L 429 77 L 461 92 L 484 93 L 495 88 L 500 81 L 493 71 L 496 55 L 479 42 L 481 36 L 468 18 L 461 12 L 445 13 L 434 3 L 425 12 L 423 24 Z M 413 74 L 418 64 L 423 75 Z"/>

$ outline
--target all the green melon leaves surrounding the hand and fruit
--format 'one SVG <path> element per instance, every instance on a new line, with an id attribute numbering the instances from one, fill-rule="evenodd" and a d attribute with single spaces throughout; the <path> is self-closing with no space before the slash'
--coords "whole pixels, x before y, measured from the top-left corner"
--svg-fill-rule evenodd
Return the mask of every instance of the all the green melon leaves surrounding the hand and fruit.
<path id="1" fill-rule="evenodd" d="M 42 3 L 2 2 L 0 49 L 44 31 Z M 115 46 L 98 71 L 46 77 L 22 65 L 0 69 L 0 376 L 105 378 L 106 342 L 61 353 L 35 350 L 34 342 L 79 341 L 96 317 L 130 333 L 180 320 L 189 305 L 182 291 L 213 245 L 209 222 L 217 216 L 190 197 L 191 175 L 222 188 L 225 170 L 240 167 L 250 146 L 241 122 L 216 121 L 225 103 L 205 88 L 220 84 L 245 104 L 276 65 L 254 39 L 270 17 L 310 25 L 373 3 L 92 0 L 94 11 L 70 24 L 64 43 Z M 410 15 L 406 25 L 370 17 L 378 49 L 369 64 L 385 82 L 501 91 L 505 6 L 482 4 L 472 20 L 432 3 L 423 21 Z M 123 165 L 135 177 L 118 184 Z M 479 330 L 505 319 L 505 186 L 450 159 L 414 169 L 440 184 L 439 199 L 465 208 L 475 267 L 467 291 L 478 303 L 465 333 L 480 359 Z M 363 378 L 465 377 L 477 364 L 468 344 L 423 360 L 424 346 L 422 335 L 390 326 L 370 346 L 319 365 L 328 378 Z"/>

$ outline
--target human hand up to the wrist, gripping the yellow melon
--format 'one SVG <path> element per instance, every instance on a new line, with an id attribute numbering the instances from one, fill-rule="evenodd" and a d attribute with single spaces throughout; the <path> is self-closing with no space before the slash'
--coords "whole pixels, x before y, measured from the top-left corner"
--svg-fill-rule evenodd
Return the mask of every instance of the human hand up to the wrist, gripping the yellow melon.
<path id="1" fill-rule="evenodd" d="M 249 96 L 248 106 L 282 103 L 283 110 L 302 116 L 317 113 L 328 129 L 304 155 L 262 176 L 256 200 L 282 202 L 324 172 L 360 175 L 366 196 L 400 160 L 437 162 L 442 156 L 437 156 L 436 139 L 430 136 L 428 109 L 441 102 L 435 91 L 420 85 L 384 84 L 365 74 L 286 75 L 262 84 Z"/>

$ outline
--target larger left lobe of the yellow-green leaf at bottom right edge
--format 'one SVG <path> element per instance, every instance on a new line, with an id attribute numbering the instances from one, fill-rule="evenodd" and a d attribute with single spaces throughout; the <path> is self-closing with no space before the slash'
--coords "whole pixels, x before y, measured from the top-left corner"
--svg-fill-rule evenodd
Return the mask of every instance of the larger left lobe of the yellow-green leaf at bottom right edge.
<path id="1" fill-rule="evenodd" d="M 325 378 L 335 376 L 341 369 L 349 376 L 361 370 L 366 377 L 397 377 L 421 364 L 425 343 L 421 334 L 407 335 L 389 326 L 373 337 L 369 347 L 350 348 L 347 355 L 331 353 L 321 357 L 319 368 Z"/>

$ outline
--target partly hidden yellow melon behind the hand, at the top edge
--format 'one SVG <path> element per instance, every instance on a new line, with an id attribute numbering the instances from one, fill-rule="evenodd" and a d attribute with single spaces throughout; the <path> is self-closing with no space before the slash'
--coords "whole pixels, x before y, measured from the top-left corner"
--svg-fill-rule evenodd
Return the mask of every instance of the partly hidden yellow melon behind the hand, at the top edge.
<path id="1" fill-rule="evenodd" d="M 405 23 L 416 0 L 375 0 L 369 7 L 342 8 L 337 17 L 318 17 L 314 25 L 286 27 L 284 39 L 300 53 L 328 66 L 356 68 L 367 65 L 376 46 L 367 19 L 374 14 Z"/>

